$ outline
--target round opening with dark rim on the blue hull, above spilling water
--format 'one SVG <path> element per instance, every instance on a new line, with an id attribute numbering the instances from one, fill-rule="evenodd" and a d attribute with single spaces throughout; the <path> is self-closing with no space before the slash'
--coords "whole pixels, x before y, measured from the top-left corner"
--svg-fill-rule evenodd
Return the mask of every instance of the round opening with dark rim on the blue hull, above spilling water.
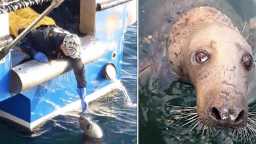
<path id="1" fill-rule="evenodd" d="M 104 77 L 104 79 L 108 79 L 112 81 L 113 79 L 116 78 L 116 75 L 117 75 L 116 66 L 113 63 L 106 63 L 102 71 L 102 76 Z"/>

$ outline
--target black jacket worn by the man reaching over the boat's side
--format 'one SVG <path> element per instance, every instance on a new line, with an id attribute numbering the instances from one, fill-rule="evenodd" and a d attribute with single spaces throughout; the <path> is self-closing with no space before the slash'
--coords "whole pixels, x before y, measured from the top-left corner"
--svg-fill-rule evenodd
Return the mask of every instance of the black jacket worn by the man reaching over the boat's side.
<path id="1" fill-rule="evenodd" d="M 25 50 L 31 58 L 37 52 L 42 52 L 52 58 L 67 58 L 72 63 L 77 88 L 85 88 L 85 69 L 81 58 L 73 59 L 63 54 L 62 50 L 60 50 L 60 44 L 63 42 L 66 33 L 64 31 L 56 32 L 53 29 L 54 27 L 37 27 L 37 29 L 32 29 L 20 41 L 20 48 Z M 18 33 L 21 33 L 23 30 L 20 29 Z"/>

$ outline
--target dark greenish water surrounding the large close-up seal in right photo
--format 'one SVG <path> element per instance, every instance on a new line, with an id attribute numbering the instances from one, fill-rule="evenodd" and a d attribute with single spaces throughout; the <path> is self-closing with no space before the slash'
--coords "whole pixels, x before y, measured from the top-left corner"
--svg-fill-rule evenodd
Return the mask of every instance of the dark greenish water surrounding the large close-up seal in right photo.
<path id="1" fill-rule="evenodd" d="M 208 136 L 206 128 L 198 128 L 200 124 L 194 123 L 196 120 L 186 124 L 193 120 L 194 115 L 190 115 L 192 117 L 189 119 L 184 117 L 188 115 L 183 111 L 173 113 L 176 108 L 167 107 L 196 105 L 194 86 L 180 82 L 173 73 L 167 58 L 167 43 L 171 26 L 181 14 L 200 6 L 221 9 L 240 31 L 247 22 L 243 36 L 252 33 L 247 42 L 255 49 L 255 27 L 253 23 L 249 24 L 250 20 L 255 20 L 255 1 L 139 1 L 139 143 L 250 143 L 249 130 L 234 132 L 215 128 L 213 134 L 208 131 Z M 255 105 L 255 102 L 251 105 Z M 196 128 L 193 128 L 195 125 Z M 244 137 L 240 139 L 242 133 Z M 255 134 L 256 131 L 252 130 L 250 137 L 256 137 Z"/>

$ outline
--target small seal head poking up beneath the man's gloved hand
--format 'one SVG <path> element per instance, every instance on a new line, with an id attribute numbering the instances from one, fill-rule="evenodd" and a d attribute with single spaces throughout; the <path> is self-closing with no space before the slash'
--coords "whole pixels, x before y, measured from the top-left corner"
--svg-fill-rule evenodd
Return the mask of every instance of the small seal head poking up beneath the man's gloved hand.
<path id="1" fill-rule="evenodd" d="M 84 135 L 87 135 L 87 136 L 93 137 L 93 138 L 102 137 L 102 135 L 103 135 L 102 130 L 100 129 L 100 127 L 97 124 L 95 124 L 91 120 L 88 120 L 85 117 L 79 117 L 78 121 L 83 130 Z"/>

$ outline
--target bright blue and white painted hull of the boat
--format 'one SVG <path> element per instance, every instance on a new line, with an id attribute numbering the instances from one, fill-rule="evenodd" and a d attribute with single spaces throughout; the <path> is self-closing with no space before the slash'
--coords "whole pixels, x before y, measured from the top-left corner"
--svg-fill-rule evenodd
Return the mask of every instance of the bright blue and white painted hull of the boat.
<path id="1" fill-rule="evenodd" d="M 111 24 L 113 16 L 117 26 L 106 26 Z M 96 12 L 95 35 L 91 39 L 91 43 L 94 43 L 93 41 L 100 43 L 98 47 L 95 46 L 94 48 L 104 48 L 104 54 L 98 60 L 85 63 L 87 81 L 85 101 L 93 101 L 119 87 L 123 57 L 123 35 L 127 27 L 126 24 L 127 3 Z M 107 27 L 110 27 L 110 29 L 107 29 Z M 87 48 L 83 47 L 85 50 Z M 95 50 L 96 52 L 97 50 Z M 113 63 L 116 66 L 115 81 L 109 81 L 102 76 L 106 63 Z M 10 92 L 12 86 L 11 54 L 7 54 L 5 62 L 0 64 L 0 69 L 0 117 L 7 118 L 33 130 L 49 118 L 78 109 L 81 106 L 73 71 L 68 71 L 47 82 L 33 86 L 20 92 L 20 94 L 12 94 Z"/>

